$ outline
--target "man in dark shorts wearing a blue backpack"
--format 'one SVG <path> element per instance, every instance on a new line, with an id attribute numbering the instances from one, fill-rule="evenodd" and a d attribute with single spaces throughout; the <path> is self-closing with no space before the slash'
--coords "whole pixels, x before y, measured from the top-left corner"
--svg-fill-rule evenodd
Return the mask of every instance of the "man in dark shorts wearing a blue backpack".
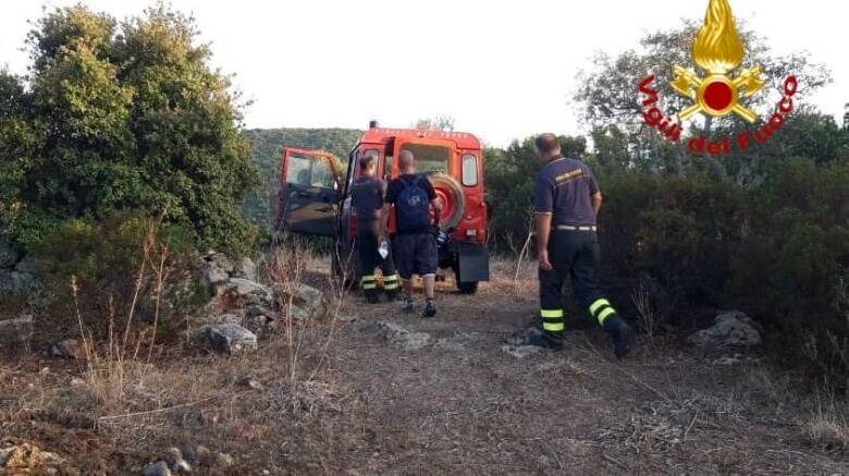
<path id="1" fill-rule="evenodd" d="M 396 224 L 395 260 L 404 290 L 403 310 L 415 310 L 411 280 L 416 273 L 424 281 L 426 302 L 422 317 L 433 317 L 436 315 L 433 297 L 439 261 L 434 231 L 440 221 L 442 204 L 430 180 L 416 173 L 416 158 L 411 151 L 403 149 L 397 160 L 401 175 L 386 188 L 383 216 L 385 221 L 389 206 L 393 205 Z M 431 218 L 431 207 L 435 220 Z"/>

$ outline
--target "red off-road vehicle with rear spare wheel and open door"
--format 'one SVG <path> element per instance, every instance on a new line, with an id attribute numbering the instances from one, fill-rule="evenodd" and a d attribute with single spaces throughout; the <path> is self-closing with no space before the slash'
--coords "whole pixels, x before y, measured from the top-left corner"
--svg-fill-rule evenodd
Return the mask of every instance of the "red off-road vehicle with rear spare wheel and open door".
<path id="1" fill-rule="evenodd" d="M 347 167 L 331 154 L 292 147 L 283 149 L 276 229 L 333 237 L 334 271 L 355 278 L 357 217 L 350 206 L 350 185 L 359 158 L 373 156 L 378 175 L 398 175 L 395 160 L 413 151 L 419 173 L 429 175 L 443 210 L 440 229 L 451 240 L 440 247 L 440 267 L 452 269 L 457 289 L 472 294 L 489 280 L 487 205 L 483 202 L 483 155 L 480 142 L 463 132 L 382 129 L 372 122 L 350 151 Z M 394 213 L 389 229 L 394 233 Z"/>

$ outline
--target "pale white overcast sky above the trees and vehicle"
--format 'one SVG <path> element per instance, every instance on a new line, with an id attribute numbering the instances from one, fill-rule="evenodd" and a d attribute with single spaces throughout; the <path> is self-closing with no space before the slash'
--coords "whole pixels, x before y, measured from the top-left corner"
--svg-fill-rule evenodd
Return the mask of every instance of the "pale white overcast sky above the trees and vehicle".
<path id="1" fill-rule="evenodd" d="M 0 1 L 0 66 L 24 74 L 22 51 L 42 7 L 78 0 Z M 123 19 L 153 0 L 83 0 Z M 490 145 L 543 131 L 582 134 L 571 97 L 596 52 L 616 54 L 707 0 L 172 0 L 210 42 L 212 63 L 253 101 L 247 127 L 405 127 L 448 115 Z M 841 122 L 849 102 L 849 3 L 731 0 L 738 20 L 778 54 L 803 51 L 834 83 L 801 99 Z"/>

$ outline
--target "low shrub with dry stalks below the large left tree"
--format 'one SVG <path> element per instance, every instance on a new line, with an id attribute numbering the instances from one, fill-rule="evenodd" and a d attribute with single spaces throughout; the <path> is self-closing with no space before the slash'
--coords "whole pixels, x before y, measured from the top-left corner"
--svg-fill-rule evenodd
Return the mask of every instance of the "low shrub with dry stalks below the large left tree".
<path id="1" fill-rule="evenodd" d="M 210 297 L 194 277 L 193 245 L 190 229 L 139 213 L 64 222 L 33 251 L 59 293 L 48 313 L 57 332 L 76 333 L 77 310 L 98 338 L 123 330 L 131 315 L 167 331 Z"/>

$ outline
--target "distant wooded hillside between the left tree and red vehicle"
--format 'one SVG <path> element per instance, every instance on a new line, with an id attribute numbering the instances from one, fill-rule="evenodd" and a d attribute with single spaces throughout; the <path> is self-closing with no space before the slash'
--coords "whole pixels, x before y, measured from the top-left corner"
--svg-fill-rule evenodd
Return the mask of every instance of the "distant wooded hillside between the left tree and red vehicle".
<path id="1" fill-rule="evenodd" d="M 324 149 L 345 158 L 361 131 L 353 129 L 251 129 L 244 132 L 253 144 L 251 157 L 259 169 L 260 186 L 245 199 L 244 213 L 267 228 L 274 209 L 283 146 Z"/>

